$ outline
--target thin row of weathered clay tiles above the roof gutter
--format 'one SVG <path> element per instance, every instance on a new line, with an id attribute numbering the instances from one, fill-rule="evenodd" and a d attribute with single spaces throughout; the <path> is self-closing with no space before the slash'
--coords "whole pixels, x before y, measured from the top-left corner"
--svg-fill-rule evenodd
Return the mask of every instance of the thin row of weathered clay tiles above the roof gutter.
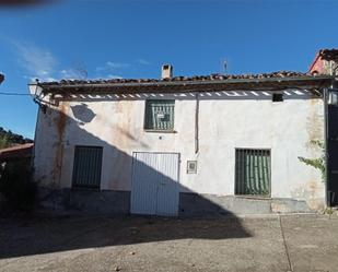
<path id="1" fill-rule="evenodd" d="M 156 83 L 156 82 L 202 82 L 202 81 L 224 81 L 228 80 L 263 80 L 263 79 L 283 79 L 283 78 L 302 78 L 311 76 L 308 73 L 293 72 L 293 71 L 278 71 L 271 73 L 258 74 L 210 74 L 210 75 L 195 75 L 195 76 L 173 76 L 170 79 L 100 79 L 100 80 L 61 80 L 58 82 L 42 82 L 40 86 L 55 85 L 78 85 L 78 84 L 119 84 L 119 83 Z"/>

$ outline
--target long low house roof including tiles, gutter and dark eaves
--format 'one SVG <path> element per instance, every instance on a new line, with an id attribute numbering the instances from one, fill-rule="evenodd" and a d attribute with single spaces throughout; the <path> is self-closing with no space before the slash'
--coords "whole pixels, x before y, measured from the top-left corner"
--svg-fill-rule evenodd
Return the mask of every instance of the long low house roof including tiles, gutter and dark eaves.
<path id="1" fill-rule="evenodd" d="M 235 90 L 318 88 L 331 83 L 329 75 L 278 71 L 259 74 L 210 74 L 171 79 L 61 80 L 37 83 L 44 93 L 55 94 L 133 94 L 212 92 Z M 36 83 L 35 83 L 36 84 Z"/>

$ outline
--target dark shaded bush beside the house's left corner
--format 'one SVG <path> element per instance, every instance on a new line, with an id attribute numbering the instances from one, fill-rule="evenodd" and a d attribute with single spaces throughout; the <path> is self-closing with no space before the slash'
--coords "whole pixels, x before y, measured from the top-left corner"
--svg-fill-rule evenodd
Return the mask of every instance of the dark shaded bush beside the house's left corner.
<path id="1" fill-rule="evenodd" d="M 0 165 L 0 193 L 8 209 L 30 211 L 34 206 L 36 185 L 32 181 L 28 161 Z"/>

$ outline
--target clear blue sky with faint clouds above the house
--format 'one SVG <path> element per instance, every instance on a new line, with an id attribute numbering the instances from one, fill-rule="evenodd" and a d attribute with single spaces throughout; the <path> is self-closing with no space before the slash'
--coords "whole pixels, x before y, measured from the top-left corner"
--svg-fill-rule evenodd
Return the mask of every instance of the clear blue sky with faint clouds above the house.
<path id="1" fill-rule="evenodd" d="M 1 3 L 1 1 L 0 1 Z M 32 80 L 306 72 L 338 47 L 338 1 L 55 0 L 0 5 L 0 93 Z M 226 68 L 223 63 L 226 62 Z M 0 94 L 0 127 L 34 138 L 37 105 Z"/>

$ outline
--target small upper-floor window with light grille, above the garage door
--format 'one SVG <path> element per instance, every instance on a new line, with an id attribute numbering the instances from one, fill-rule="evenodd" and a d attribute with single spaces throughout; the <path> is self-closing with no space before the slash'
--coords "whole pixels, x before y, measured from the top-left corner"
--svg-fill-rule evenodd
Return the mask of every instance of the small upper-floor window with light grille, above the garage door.
<path id="1" fill-rule="evenodd" d="M 175 100 L 147 100 L 145 130 L 174 130 Z"/>

